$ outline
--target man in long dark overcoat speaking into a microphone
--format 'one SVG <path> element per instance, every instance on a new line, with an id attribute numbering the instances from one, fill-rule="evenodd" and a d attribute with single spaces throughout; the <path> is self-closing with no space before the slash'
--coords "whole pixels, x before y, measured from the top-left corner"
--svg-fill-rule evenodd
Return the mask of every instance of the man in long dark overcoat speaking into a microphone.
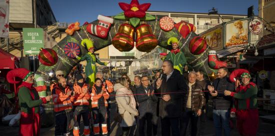
<path id="1" fill-rule="evenodd" d="M 184 76 L 173 68 L 170 60 L 162 63 L 162 78 L 156 81 L 155 92 L 160 92 L 159 116 L 161 118 L 161 134 L 179 135 L 179 117 L 182 113 L 182 96 L 187 92 Z"/>

